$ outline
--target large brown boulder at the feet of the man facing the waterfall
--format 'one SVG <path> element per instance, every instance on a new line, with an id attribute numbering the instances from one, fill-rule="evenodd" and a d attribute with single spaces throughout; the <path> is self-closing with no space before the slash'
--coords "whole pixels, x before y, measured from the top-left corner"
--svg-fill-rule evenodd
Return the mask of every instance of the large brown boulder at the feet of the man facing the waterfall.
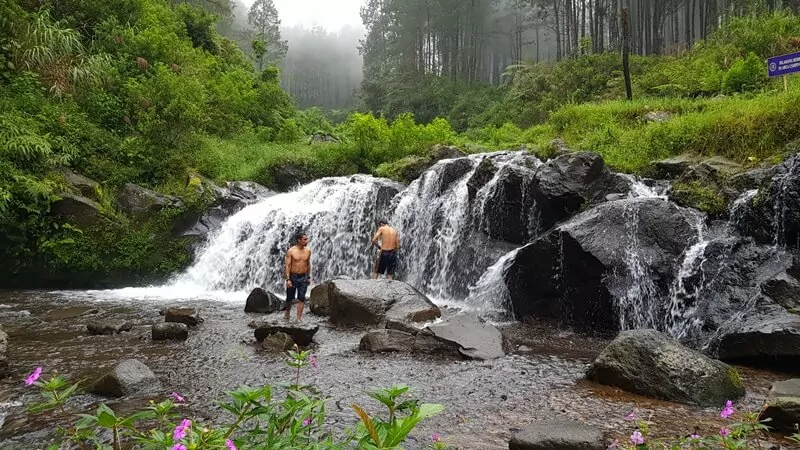
<path id="1" fill-rule="evenodd" d="M 426 322 L 442 313 L 425 295 L 397 280 L 331 280 L 330 320 L 336 325 L 378 325 L 387 319 Z"/>

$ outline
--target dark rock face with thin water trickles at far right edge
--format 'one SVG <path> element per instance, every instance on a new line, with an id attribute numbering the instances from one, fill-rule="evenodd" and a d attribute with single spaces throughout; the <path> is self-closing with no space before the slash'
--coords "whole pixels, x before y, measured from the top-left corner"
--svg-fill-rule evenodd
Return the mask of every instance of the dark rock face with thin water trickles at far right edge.
<path id="1" fill-rule="evenodd" d="M 800 247 L 800 154 L 772 169 L 772 179 L 741 208 L 735 225 L 761 244 Z"/>

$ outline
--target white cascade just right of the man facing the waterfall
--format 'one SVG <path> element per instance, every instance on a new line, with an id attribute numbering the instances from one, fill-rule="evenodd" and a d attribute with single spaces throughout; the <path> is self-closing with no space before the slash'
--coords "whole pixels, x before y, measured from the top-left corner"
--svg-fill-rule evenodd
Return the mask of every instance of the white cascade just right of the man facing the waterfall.
<path id="1" fill-rule="evenodd" d="M 497 171 L 472 187 L 477 191 L 471 198 L 469 182 L 485 158 Z M 485 225 L 486 202 L 497 193 L 505 168 L 530 171 L 523 163 L 531 160 L 541 163 L 525 152 L 443 160 L 401 193 L 392 222 L 402 231 L 403 280 L 439 301 L 466 297 L 469 286 L 510 249 L 478 231 Z M 520 220 L 527 226 L 531 219 Z"/>

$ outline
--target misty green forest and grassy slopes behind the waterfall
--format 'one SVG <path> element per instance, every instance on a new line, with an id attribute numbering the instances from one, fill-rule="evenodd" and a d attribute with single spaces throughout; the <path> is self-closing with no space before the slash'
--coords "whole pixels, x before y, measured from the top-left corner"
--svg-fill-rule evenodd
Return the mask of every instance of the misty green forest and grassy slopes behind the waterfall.
<path id="1" fill-rule="evenodd" d="M 0 0 L 0 280 L 173 273 L 207 179 L 407 182 L 435 144 L 567 145 L 634 173 L 684 152 L 779 160 L 800 138 L 800 83 L 768 79 L 764 61 L 800 51 L 797 7 L 369 0 L 362 33 L 287 27 L 271 0 Z M 171 206 L 126 209 L 139 188 Z"/>

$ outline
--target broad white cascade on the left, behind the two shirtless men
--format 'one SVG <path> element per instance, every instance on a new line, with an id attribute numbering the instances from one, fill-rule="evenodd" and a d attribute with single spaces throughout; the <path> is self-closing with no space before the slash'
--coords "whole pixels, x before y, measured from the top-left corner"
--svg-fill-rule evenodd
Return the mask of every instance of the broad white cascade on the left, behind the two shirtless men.
<path id="1" fill-rule="evenodd" d="M 223 223 L 174 284 L 280 292 L 286 249 L 301 230 L 309 236 L 314 281 L 366 277 L 374 259 L 369 239 L 395 192 L 382 181 L 356 175 L 318 180 L 248 206 Z"/>

